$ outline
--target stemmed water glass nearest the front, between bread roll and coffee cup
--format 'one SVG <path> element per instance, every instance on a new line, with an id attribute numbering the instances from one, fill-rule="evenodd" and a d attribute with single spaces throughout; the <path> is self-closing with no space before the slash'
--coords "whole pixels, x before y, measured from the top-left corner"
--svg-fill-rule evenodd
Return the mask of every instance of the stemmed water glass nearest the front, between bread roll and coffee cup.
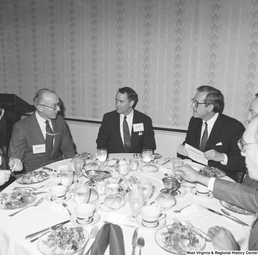
<path id="1" fill-rule="evenodd" d="M 130 221 L 135 221 L 136 216 L 140 213 L 140 209 L 143 207 L 143 191 L 142 190 L 130 190 L 128 193 L 128 203 L 133 214 L 127 218 Z"/>

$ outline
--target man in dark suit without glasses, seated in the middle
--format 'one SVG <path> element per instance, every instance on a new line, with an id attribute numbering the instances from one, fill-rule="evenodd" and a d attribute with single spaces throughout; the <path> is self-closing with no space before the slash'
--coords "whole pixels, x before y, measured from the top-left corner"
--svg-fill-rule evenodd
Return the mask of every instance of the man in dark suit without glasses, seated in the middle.
<path id="1" fill-rule="evenodd" d="M 97 149 L 108 153 L 141 153 L 156 149 L 151 118 L 133 109 L 138 101 L 136 92 L 120 88 L 116 93 L 116 110 L 104 114 L 96 140 Z"/>

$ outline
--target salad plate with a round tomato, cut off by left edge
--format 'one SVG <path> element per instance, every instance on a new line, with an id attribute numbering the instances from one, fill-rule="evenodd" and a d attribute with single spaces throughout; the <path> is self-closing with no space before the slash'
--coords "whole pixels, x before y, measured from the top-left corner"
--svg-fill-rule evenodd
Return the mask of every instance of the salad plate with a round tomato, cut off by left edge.
<path id="1" fill-rule="evenodd" d="M 26 195 L 32 196 L 33 200 L 31 202 L 25 202 L 23 200 L 23 197 Z M 0 209 L 4 209 L 4 210 L 20 209 L 31 205 L 32 203 L 34 203 L 35 200 L 36 200 L 36 196 L 26 190 L 16 190 L 9 194 L 2 192 L 0 195 Z"/>

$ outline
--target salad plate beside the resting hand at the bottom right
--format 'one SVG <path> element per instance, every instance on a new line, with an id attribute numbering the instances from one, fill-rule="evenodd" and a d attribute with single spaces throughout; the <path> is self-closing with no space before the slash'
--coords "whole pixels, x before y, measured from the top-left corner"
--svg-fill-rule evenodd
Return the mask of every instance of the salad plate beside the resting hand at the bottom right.
<path id="1" fill-rule="evenodd" d="M 159 228 L 154 237 L 162 249 L 174 254 L 200 251 L 206 244 L 204 237 L 197 230 L 176 223 Z"/>

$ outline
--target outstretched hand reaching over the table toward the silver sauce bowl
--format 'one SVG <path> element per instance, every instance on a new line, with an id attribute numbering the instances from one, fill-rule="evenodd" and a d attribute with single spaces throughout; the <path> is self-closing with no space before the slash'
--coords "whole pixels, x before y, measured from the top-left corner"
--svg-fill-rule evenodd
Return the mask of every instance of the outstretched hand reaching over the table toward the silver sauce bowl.
<path id="1" fill-rule="evenodd" d="M 177 166 L 175 167 L 175 171 L 175 173 L 183 177 L 184 180 L 197 181 L 208 186 L 210 177 L 198 173 L 189 165 Z"/>

